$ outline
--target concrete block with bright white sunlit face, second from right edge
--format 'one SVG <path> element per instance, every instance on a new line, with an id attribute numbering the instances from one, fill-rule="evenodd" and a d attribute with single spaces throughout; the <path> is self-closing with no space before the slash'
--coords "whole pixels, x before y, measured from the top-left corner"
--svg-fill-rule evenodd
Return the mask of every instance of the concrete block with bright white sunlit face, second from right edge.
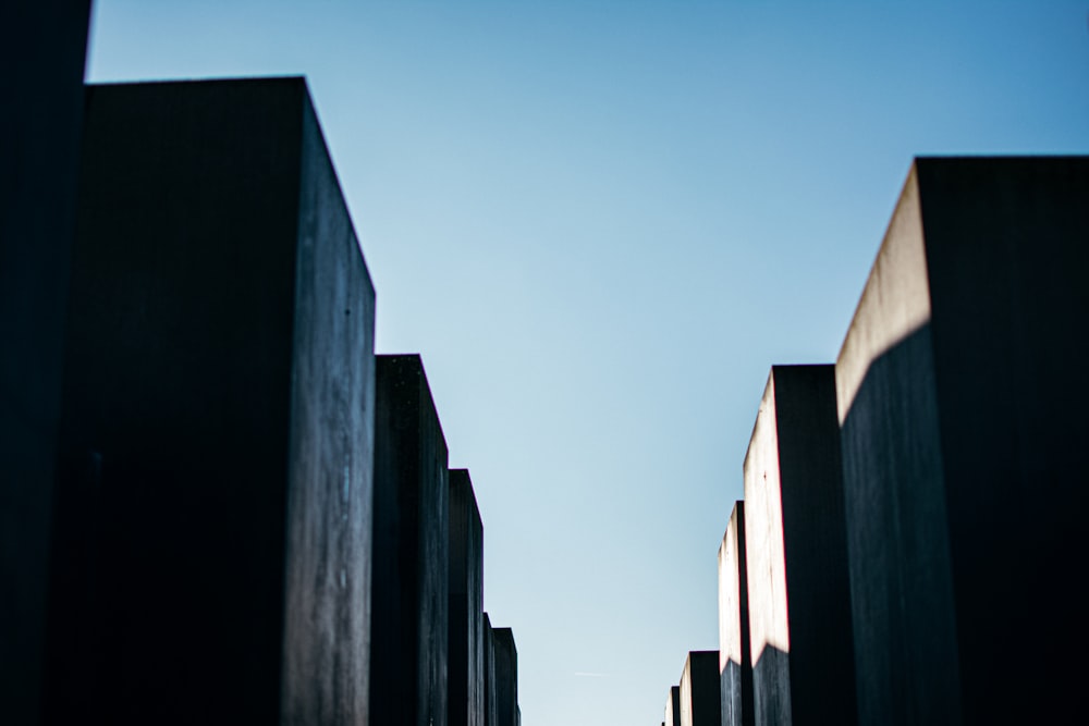
<path id="1" fill-rule="evenodd" d="M 833 366 L 774 366 L 745 456 L 757 724 L 854 724 Z"/>

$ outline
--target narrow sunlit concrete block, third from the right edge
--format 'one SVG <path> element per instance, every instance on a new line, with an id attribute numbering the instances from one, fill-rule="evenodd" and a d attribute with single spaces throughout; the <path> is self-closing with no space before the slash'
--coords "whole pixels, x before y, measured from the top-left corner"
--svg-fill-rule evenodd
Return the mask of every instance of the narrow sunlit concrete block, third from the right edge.
<path id="1" fill-rule="evenodd" d="M 719 546 L 719 679 L 722 726 L 751 726 L 752 656 L 745 561 L 745 503 L 734 504 Z"/>

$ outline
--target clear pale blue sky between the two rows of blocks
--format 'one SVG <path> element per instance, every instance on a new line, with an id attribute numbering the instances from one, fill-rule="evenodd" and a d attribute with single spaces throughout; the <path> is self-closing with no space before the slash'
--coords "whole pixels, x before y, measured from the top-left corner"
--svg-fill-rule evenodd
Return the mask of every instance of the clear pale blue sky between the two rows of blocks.
<path id="1" fill-rule="evenodd" d="M 1089 0 L 95 0 L 88 52 L 308 77 L 526 726 L 658 724 L 718 648 L 768 369 L 835 359 L 913 156 L 1089 152 Z"/>

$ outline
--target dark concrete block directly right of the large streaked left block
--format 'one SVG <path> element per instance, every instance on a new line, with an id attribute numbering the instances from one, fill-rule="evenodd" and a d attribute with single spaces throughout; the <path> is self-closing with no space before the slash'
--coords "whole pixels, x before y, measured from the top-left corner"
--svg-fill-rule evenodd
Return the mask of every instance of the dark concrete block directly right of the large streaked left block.
<path id="1" fill-rule="evenodd" d="M 377 356 L 375 426 L 371 722 L 445 726 L 450 484 L 419 356 Z"/>

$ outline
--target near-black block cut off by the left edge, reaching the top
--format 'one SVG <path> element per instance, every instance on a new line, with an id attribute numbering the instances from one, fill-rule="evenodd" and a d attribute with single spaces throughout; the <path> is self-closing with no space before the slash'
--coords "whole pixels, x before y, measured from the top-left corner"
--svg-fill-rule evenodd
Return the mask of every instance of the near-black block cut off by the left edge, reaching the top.
<path id="1" fill-rule="evenodd" d="M 89 0 L 0 3 L 0 703 L 40 718 Z"/>

